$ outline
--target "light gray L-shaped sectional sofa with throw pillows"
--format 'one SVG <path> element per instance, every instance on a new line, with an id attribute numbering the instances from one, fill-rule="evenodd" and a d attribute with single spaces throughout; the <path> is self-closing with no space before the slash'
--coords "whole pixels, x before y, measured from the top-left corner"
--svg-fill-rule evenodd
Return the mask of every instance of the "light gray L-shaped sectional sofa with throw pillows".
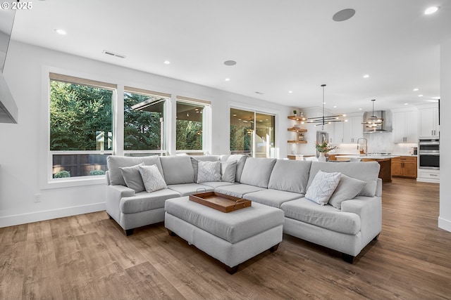
<path id="1" fill-rule="evenodd" d="M 152 165 L 166 187 L 148 193 L 140 170 Z M 213 190 L 283 210 L 284 233 L 342 252 L 343 259 L 351 263 L 382 229 L 377 162 L 307 162 L 246 155 L 110 156 L 108 167 L 106 212 L 127 235 L 134 228 L 164 221 L 166 200 Z M 204 182 L 212 178 L 206 170 L 215 174 L 214 180 Z"/>

